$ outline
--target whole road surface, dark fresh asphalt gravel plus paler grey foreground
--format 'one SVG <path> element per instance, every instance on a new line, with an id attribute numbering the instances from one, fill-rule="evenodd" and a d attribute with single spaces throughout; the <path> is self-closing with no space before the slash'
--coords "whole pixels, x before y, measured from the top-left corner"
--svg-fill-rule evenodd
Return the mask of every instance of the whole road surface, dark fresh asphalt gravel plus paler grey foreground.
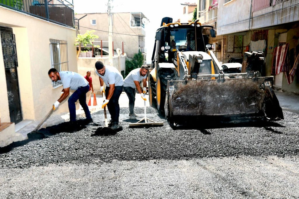
<path id="1" fill-rule="evenodd" d="M 173 129 L 147 107 L 164 125 L 129 128 L 144 108 L 135 113 L 121 108 L 115 135 L 95 134 L 101 110 L 75 130 L 62 123 L 0 148 L 0 198 L 299 198 L 298 114 Z"/>

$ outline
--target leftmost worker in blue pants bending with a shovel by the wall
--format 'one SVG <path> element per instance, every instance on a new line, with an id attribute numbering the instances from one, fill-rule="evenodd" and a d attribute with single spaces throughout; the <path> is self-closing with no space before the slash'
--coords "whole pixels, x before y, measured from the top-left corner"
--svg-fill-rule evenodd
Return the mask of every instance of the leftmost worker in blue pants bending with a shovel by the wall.
<path id="1" fill-rule="evenodd" d="M 70 124 L 76 125 L 76 105 L 75 102 L 79 100 L 80 105 L 82 106 L 86 120 L 91 122 L 91 116 L 86 104 L 86 93 L 89 91 L 89 83 L 86 79 L 75 72 L 72 71 L 60 71 L 58 72 L 55 68 L 51 68 L 48 71 L 49 77 L 52 81 L 57 82 L 57 80 L 61 80 L 63 86 L 63 94 L 60 98 L 53 104 L 54 109 L 58 108 L 59 104 L 68 97 L 70 93 L 70 89 L 75 92 L 68 98 L 68 109 L 70 111 Z"/>

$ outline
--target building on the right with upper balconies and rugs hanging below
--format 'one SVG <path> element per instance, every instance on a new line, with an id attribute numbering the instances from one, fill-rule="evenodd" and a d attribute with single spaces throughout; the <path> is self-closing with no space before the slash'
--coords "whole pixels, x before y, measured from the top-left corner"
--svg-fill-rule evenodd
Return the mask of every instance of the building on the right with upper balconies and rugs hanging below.
<path id="1" fill-rule="evenodd" d="M 274 76 L 278 89 L 299 94 L 298 0 L 199 0 L 198 4 L 200 22 L 215 27 L 217 37 L 210 42 L 220 62 L 242 60 L 245 51 L 262 51 L 262 75 Z"/>

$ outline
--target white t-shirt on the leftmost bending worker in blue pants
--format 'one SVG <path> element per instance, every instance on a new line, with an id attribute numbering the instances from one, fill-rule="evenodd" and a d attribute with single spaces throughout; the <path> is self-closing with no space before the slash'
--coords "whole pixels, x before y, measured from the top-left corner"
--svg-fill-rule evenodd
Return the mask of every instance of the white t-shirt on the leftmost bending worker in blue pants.
<path id="1" fill-rule="evenodd" d="M 60 71 L 60 79 L 63 88 L 70 88 L 71 90 L 77 90 L 80 86 L 87 86 L 87 80 L 80 74 L 72 71 Z"/>

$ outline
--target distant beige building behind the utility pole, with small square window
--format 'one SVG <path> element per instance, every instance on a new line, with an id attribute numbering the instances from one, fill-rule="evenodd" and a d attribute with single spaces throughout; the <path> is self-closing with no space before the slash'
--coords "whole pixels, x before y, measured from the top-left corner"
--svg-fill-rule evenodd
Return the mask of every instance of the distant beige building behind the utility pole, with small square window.
<path id="1" fill-rule="evenodd" d="M 86 30 L 95 30 L 95 35 L 99 36 L 94 45 L 101 45 L 108 48 L 109 21 L 108 13 L 83 13 L 76 14 L 78 29 L 80 34 Z M 143 13 L 113 13 L 112 14 L 112 41 L 113 49 L 123 50 L 130 58 L 139 51 L 144 54 L 145 49 L 145 20 Z"/>

